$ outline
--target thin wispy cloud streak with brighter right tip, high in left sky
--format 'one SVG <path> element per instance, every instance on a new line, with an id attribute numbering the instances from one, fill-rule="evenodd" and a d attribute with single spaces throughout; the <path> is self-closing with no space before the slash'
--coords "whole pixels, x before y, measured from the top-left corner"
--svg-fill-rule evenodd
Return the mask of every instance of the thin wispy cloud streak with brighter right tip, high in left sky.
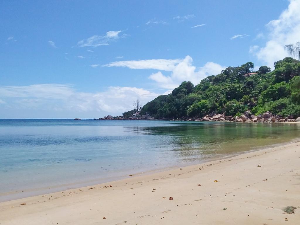
<path id="1" fill-rule="evenodd" d="M 99 36 L 99 35 L 94 35 L 90 38 L 78 41 L 77 47 L 98 47 L 102 45 L 110 45 L 111 42 L 117 41 L 119 38 L 125 38 L 128 35 L 123 34 L 119 36 L 119 34 L 123 31 L 108 31 L 106 32 L 106 35 Z"/>

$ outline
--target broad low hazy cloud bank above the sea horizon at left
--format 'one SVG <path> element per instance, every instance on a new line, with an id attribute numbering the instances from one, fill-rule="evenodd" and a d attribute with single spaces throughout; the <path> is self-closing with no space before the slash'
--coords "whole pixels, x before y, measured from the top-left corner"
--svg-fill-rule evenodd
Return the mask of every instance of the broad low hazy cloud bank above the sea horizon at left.
<path id="1" fill-rule="evenodd" d="M 160 93 L 161 94 L 161 93 Z M 17 110 L 34 110 L 38 113 L 46 110 L 51 115 L 86 115 L 87 117 L 102 117 L 107 114 L 122 115 L 123 112 L 132 109 L 132 103 L 140 98 L 141 102 L 156 98 L 155 93 L 136 87 L 108 87 L 101 92 L 79 92 L 72 85 L 62 84 L 36 84 L 29 86 L 0 86 L 0 95 L 8 100 L 5 107 Z M 4 104 L 4 100 L 0 103 Z M 25 112 L 24 111 L 24 112 Z M 7 110 L 8 112 L 8 110 Z M 21 112 L 21 111 L 19 111 Z M 61 113 L 61 114 L 59 114 Z M 48 114 L 47 114 L 48 115 Z M 9 115 L 2 115 L 8 118 Z M 31 116 L 32 117 L 43 117 Z M 19 118 L 22 115 L 19 115 Z"/>

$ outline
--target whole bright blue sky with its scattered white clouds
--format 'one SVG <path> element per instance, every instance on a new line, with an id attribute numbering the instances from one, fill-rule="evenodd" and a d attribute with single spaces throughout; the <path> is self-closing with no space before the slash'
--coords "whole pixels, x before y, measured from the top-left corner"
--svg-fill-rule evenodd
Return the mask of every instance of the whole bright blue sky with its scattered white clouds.
<path id="1" fill-rule="evenodd" d="M 300 41 L 300 0 L 0 1 L 0 118 L 122 115 Z"/>

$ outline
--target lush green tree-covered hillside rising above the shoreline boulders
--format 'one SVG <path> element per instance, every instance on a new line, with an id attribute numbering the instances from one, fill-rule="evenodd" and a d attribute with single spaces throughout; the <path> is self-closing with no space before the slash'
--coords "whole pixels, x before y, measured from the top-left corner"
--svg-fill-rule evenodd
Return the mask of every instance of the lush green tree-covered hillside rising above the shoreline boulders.
<path id="1" fill-rule="evenodd" d="M 252 71 L 254 64 L 247 62 L 227 67 L 196 86 L 184 81 L 171 94 L 144 105 L 141 114 L 148 112 L 157 119 L 195 118 L 213 112 L 239 116 L 244 111 L 300 116 L 300 61 L 287 57 L 274 66 L 273 71 L 267 66 Z"/>

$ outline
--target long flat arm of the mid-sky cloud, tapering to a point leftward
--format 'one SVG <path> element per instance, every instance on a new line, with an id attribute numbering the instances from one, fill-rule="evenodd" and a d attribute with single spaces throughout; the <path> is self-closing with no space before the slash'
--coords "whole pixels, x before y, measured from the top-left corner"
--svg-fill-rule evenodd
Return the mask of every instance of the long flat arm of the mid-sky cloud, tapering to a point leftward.
<path id="1" fill-rule="evenodd" d="M 106 64 L 107 67 L 128 67 L 130 69 L 155 69 L 172 71 L 181 59 L 146 59 L 132 61 L 116 61 Z"/>

